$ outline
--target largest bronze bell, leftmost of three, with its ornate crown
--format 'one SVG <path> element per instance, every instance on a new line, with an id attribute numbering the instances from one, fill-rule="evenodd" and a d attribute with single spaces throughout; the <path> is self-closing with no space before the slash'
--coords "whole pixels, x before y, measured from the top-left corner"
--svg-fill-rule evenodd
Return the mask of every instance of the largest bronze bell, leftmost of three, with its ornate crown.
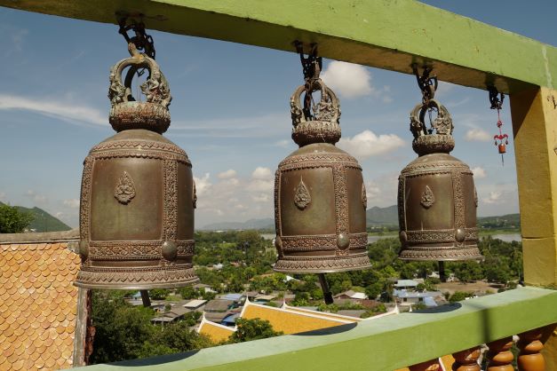
<path id="1" fill-rule="evenodd" d="M 154 59 L 130 43 L 131 58 L 110 72 L 109 122 L 118 133 L 84 161 L 79 252 L 82 288 L 174 288 L 197 281 L 195 185 L 187 154 L 161 135 L 170 125 L 171 93 Z M 129 67 L 122 83 L 124 68 Z M 139 68 L 149 72 L 131 96 Z"/>

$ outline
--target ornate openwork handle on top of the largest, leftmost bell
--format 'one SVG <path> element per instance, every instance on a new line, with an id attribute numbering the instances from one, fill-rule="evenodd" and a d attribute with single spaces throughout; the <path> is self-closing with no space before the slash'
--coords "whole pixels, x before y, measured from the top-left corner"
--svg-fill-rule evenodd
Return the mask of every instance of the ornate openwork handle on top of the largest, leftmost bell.
<path id="1" fill-rule="evenodd" d="M 130 67 L 122 83 L 124 68 Z M 144 54 L 135 54 L 131 58 L 123 59 L 110 70 L 110 87 L 108 98 L 112 107 L 117 104 L 134 101 L 131 94 L 131 81 L 139 68 L 149 71 L 147 81 L 140 85 L 141 91 L 146 96 L 146 101 L 167 108 L 171 104 L 171 91 L 168 82 L 154 59 Z"/>

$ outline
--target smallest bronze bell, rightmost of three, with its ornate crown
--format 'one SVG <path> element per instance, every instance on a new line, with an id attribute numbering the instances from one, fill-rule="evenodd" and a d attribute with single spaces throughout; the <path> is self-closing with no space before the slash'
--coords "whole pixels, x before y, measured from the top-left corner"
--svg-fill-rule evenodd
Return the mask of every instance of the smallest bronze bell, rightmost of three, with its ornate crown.
<path id="1" fill-rule="evenodd" d="M 437 117 L 426 129 L 426 111 Z M 418 158 L 399 177 L 398 214 L 401 259 L 479 260 L 476 209 L 478 196 L 468 165 L 450 155 L 455 146 L 453 123 L 434 99 L 410 113 L 412 148 Z M 435 132 L 434 132 L 435 131 Z"/>

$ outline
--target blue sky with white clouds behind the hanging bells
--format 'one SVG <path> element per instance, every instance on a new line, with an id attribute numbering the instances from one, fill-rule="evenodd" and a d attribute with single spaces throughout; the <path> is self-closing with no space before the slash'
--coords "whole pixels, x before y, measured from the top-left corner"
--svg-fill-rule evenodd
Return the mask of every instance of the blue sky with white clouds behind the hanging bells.
<path id="1" fill-rule="evenodd" d="M 557 45 L 554 0 L 424 3 Z M 173 96 L 164 136 L 193 163 L 196 227 L 273 217 L 276 167 L 297 148 L 289 99 L 303 83 L 298 55 L 148 33 Z M 108 71 L 129 55 L 123 37 L 115 25 L 0 7 L 0 39 L 0 201 L 45 209 L 76 227 L 84 158 L 114 134 Z M 395 204 L 396 178 L 416 157 L 408 118 L 421 99 L 414 76 L 324 59 L 322 79 L 340 99 L 338 146 L 362 165 L 369 207 Z M 441 83 L 436 98 L 455 124 L 452 154 L 474 172 L 478 215 L 518 212 L 512 140 L 502 166 L 488 93 Z M 508 99 L 501 117 L 511 135 Z"/>

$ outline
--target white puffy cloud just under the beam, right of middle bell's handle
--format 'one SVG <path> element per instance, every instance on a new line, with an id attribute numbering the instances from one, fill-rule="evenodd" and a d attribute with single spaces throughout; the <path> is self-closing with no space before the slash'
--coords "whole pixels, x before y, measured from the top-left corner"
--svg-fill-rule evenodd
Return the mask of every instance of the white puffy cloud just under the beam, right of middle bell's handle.
<path id="1" fill-rule="evenodd" d="M 363 66 L 333 60 L 321 73 L 321 78 L 333 91 L 343 97 L 356 98 L 370 95 L 370 71 Z"/>

